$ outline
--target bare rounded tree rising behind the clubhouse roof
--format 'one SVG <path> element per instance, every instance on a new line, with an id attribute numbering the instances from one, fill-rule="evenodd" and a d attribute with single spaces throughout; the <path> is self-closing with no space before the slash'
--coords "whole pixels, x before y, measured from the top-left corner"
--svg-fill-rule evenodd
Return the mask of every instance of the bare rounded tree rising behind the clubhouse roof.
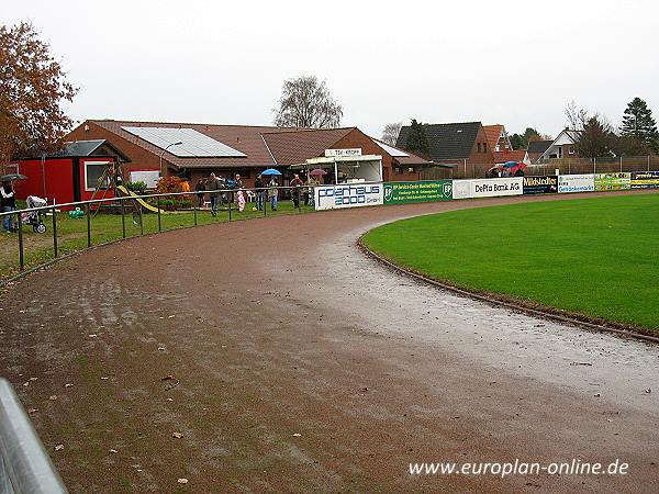
<path id="1" fill-rule="evenodd" d="M 278 127 L 335 128 L 343 109 L 315 76 L 301 76 L 283 82 L 279 108 L 272 110 Z"/>

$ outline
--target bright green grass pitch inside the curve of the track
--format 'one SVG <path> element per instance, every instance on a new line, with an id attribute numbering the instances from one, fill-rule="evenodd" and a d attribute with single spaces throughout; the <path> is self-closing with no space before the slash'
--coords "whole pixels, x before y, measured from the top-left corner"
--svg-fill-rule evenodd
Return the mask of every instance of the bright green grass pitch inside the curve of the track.
<path id="1" fill-rule="evenodd" d="M 511 204 L 403 220 L 364 237 L 414 271 L 659 334 L 659 195 Z"/>

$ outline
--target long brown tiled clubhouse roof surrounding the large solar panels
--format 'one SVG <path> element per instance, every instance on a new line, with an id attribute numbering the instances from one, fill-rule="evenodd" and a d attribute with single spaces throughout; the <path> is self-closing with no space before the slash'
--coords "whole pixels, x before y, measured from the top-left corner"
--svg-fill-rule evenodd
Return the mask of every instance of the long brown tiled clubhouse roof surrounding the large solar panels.
<path id="1" fill-rule="evenodd" d="M 212 124 L 193 124 L 193 123 L 165 123 L 165 122 L 132 122 L 118 120 L 91 120 L 97 124 L 126 141 L 155 154 L 160 155 L 163 149 L 146 141 L 133 135 L 121 127 L 174 127 L 174 128 L 193 128 L 215 141 L 220 141 L 227 146 L 237 149 L 247 157 L 245 158 L 180 158 L 170 153 L 165 153 L 163 159 L 179 168 L 208 168 L 208 167 L 271 167 L 275 165 L 268 148 L 264 145 L 261 133 L 264 132 L 287 132 L 278 127 L 270 126 L 249 126 L 249 125 L 212 125 Z"/>

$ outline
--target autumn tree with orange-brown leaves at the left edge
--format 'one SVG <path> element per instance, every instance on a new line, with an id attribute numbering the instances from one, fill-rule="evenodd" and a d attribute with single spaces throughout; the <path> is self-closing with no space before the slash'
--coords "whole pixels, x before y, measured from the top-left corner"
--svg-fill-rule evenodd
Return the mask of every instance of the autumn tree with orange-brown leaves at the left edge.
<path id="1" fill-rule="evenodd" d="M 0 168 L 13 157 L 62 147 L 72 121 L 62 110 L 78 92 L 34 26 L 0 26 Z"/>

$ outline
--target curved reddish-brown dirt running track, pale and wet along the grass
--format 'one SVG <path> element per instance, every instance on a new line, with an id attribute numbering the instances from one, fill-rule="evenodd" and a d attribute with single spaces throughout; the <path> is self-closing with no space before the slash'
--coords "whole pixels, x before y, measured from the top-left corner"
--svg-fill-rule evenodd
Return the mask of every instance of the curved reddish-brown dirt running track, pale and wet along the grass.
<path id="1" fill-rule="evenodd" d="M 458 297 L 355 246 L 398 217 L 505 202 L 254 220 L 76 256 L 0 295 L 0 374 L 37 408 L 71 492 L 657 492 L 657 346 Z M 629 473 L 409 473 L 572 458 Z"/>

